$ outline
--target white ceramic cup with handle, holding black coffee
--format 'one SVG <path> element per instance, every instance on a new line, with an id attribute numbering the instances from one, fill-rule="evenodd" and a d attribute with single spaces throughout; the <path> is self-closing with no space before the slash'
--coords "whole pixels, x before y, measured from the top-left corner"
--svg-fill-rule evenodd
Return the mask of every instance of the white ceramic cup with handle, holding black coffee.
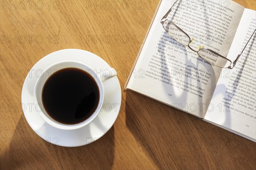
<path id="1" fill-rule="evenodd" d="M 43 92 L 44 84 L 47 82 L 47 79 L 50 77 L 50 75 L 52 75 L 52 73 L 64 68 L 77 68 L 77 69 L 84 70 L 94 78 L 99 88 L 99 104 L 96 110 L 93 112 L 93 114 L 89 118 L 87 118 L 85 121 L 79 124 L 72 124 L 72 125 L 62 124 L 58 121 L 55 121 L 53 118 L 51 118 L 51 116 L 44 109 L 44 105 L 42 101 L 42 92 Z M 104 101 L 104 82 L 115 76 L 116 76 L 115 69 L 107 69 L 107 70 L 103 70 L 101 73 L 98 73 L 98 72 L 95 72 L 95 70 L 93 70 L 86 64 L 76 62 L 76 61 L 62 61 L 59 63 L 55 63 L 43 71 L 43 74 L 40 76 L 40 78 L 38 78 L 35 84 L 35 89 L 34 89 L 35 104 L 41 107 L 41 109 L 39 110 L 39 114 L 41 115 L 41 117 L 44 119 L 45 122 L 50 124 L 52 127 L 56 127 L 58 129 L 75 130 L 75 129 L 84 127 L 87 124 L 89 124 L 91 121 L 93 121 L 99 114 L 100 110 L 102 109 L 102 105 Z"/>

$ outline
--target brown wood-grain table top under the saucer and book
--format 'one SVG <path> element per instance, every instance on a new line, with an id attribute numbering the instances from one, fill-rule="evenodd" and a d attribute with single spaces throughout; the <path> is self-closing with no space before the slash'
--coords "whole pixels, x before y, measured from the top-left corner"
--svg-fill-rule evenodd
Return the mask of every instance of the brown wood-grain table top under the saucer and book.
<path id="1" fill-rule="evenodd" d="M 236 0 L 256 10 L 255 0 Z M 134 92 L 123 92 L 158 0 L 0 0 L 0 169 L 256 169 L 256 144 Z M 122 107 L 98 141 L 41 139 L 20 104 L 29 69 L 60 49 L 84 49 L 119 70 Z"/>

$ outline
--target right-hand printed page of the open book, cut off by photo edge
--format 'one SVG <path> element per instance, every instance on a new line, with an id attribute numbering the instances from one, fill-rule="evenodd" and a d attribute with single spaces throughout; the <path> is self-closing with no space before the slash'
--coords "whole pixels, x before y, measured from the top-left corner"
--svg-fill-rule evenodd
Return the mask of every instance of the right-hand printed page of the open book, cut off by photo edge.
<path id="1" fill-rule="evenodd" d="M 245 9 L 229 57 L 235 60 L 256 29 L 256 11 Z M 205 119 L 256 141 L 256 35 L 254 34 L 236 66 L 223 69 Z"/>

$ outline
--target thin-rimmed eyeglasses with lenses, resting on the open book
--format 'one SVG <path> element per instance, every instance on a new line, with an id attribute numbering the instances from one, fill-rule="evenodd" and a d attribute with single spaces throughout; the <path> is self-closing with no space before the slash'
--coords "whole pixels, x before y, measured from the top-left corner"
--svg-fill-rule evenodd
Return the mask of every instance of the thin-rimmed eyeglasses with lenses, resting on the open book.
<path id="1" fill-rule="evenodd" d="M 176 0 L 175 3 L 177 3 L 178 0 Z M 172 5 L 172 7 L 175 5 L 175 3 Z M 172 12 L 172 7 L 169 9 L 169 11 L 163 16 L 161 20 L 161 24 L 163 25 L 163 28 L 166 30 L 166 32 L 178 43 L 182 44 L 183 46 L 189 47 L 193 52 L 197 52 L 197 54 L 203 58 L 205 61 L 209 62 L 213 66 L 218 66 L 221 68 L 228 68 L 233 69 L 236 65 L 236 62 L 238 61 L 241 54 L 244 52 L 245 47 L 249 43 L 250 39 L 253 37 L 254 33 L 256 32 L 256 29 L 254 30 L 253 34 L 251 35 L 250 39 L 248 40 L 247 44 L 244 46 L 244 49 L 242 50 L 241 54 L 239 54 L 236 57 L 236 60 L 232 61 L 223 57 L 222 55 L 218 54 L 215 51 L 212 51 L 208 48 L 199 48 L 198 51 L 195 49 L 192 49 L 190 44 L 193 42 L 194 38 L 190 38 L 189 35 L 186 34 L 180 27 L 178 27 L 175 23 L 173 23 L 170 20 L 167 20 L 167 16 Z M 202 47 L 202 46 L 201 46 Z"/>

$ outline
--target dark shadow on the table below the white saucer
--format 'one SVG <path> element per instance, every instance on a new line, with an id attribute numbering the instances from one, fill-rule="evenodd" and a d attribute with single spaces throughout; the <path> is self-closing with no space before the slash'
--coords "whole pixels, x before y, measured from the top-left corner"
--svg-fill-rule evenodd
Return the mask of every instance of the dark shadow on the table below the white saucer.
<path id="1" fill-rule="evenodd" d="M 12 137 L 1 137 L 1 147 L 9 150 L 1 152 L 0 169 L 111 169 L 114 144 L 112 127 L 93 143 L 60 147 L 39 137 L 21 116 Z"/>

